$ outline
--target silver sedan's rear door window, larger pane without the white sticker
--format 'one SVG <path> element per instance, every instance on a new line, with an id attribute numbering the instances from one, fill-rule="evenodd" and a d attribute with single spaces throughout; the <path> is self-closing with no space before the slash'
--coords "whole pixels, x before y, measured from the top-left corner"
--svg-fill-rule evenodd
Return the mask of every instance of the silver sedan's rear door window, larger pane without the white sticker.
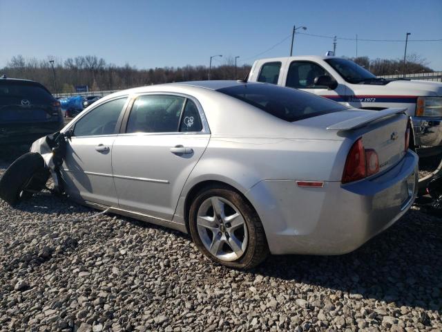
<path id="1" fill-rule="evenodd" d="M 177 95 L 142 95 L 129 114 L 126 133 L 169 133 L 178 131 L 186 98 Z"/>

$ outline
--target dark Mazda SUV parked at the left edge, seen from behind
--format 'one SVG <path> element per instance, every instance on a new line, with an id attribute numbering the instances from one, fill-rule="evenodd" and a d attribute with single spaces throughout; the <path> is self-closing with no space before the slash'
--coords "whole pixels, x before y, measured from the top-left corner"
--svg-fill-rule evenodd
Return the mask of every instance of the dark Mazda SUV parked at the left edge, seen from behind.
<path id="1" fill-rule="evenodd" d="M 0 77 L 0 145 L 30 144 L 63 125 L 60 103 L 43 85 Z"/>

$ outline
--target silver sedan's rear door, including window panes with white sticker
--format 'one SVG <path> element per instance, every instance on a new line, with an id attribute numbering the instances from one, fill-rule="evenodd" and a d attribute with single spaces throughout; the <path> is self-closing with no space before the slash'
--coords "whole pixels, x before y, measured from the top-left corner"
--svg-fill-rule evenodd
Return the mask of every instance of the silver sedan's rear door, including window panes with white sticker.
<path id="1" fill-rule="evenodd" d="M 182 187 L 209 143 L 197 100 L 138 96 L 113 145 L 119 208 L 171 220 Z"/>

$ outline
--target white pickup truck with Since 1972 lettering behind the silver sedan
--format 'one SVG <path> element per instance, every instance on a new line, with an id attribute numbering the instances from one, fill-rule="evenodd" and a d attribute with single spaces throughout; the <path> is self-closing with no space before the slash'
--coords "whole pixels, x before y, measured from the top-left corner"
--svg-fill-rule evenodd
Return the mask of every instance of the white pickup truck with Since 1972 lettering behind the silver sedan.
<path id="1" fill-rule="evenodd" d="M 419 156 L 442 154 L 442 83 L 385 80 L 348 59 L 314 55 L 257 60 L 248 81 L 300 89 L 358 109 L 405 107 Z M 441 166 L 421 181 L 429 180 Z"/>

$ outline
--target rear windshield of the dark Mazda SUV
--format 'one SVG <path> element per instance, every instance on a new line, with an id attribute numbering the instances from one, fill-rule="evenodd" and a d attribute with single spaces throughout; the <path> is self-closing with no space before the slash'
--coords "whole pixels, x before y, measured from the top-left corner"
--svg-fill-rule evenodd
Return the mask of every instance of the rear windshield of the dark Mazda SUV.
<path id="1" fill-rule="evenodd" d="M 0 84 L 0 102 L 29 100 L 30 104 L 50 104 L 54 98 L 46 89 L 38 85 Z"/>

